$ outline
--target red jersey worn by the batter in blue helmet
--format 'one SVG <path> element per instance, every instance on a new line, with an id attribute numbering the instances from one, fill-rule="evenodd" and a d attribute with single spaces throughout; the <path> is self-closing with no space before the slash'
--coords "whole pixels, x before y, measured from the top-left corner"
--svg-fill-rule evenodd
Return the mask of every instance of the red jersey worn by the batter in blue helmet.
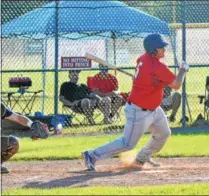
<path id="1" fill-rule="evenodd" d="M 163 98 L 163 88 L 176 76 L 157 58 L 144 53 L 137 60 L 135 78 L 128 101 L 145 109 L 156 109 Z"/>

